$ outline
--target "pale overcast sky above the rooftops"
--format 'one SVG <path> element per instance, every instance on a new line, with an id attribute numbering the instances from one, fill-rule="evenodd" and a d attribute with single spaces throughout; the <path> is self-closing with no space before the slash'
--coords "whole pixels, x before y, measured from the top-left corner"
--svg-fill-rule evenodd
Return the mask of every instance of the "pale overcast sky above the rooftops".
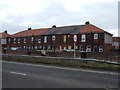
<path id="1" fill-rule="evenodd" d="M 0 29 L 14 34 L 86 21 L 118 36 L 119 0 L 0 0 Z"/>

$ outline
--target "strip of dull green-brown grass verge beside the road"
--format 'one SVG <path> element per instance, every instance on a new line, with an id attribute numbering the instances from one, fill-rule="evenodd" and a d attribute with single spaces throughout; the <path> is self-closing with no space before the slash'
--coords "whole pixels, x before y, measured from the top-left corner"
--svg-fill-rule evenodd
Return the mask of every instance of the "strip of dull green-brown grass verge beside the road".
<path id="1" fill-rule="evenodd" d="M 3 60 L 25 62 L 25 63 L 35 63 L 35 64 L 47 64 L 56 65 L 63 67 L 75 67 L 75 68 L 89 68 L 89 69 L 101 69 L 109 71 L 118 71 L 120 66 L 99 63 L 94 61 L 78 61 L 78 60 L 56 60 L 56 59 L 41 59 L 41 58 L 30 58 L 30 57 L 20 57 L 20 56 L 3 56 Z"/>

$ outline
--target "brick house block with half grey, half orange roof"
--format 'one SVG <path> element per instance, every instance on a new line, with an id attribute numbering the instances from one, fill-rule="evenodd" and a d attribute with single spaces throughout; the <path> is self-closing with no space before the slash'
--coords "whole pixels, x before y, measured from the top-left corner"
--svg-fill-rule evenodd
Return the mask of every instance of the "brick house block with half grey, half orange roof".
<path id="1" fill-rule="evenodd" d="M 109 52 L 112 48 L 112 34 L 86 22 L 85 25 L 53 26 L 43 36 L 48 38 L 44 47 L 52 50 L 73 50 L 73 36 L 77 35 L 76 50 L 86 52 Z"/>

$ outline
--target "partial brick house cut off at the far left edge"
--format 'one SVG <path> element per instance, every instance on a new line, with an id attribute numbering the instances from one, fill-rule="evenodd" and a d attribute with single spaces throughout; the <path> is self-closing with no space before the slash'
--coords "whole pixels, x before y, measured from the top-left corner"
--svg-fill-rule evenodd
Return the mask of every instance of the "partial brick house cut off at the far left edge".
<path id="1" fill-rule="evenodd" d="M 3 49 L 9 47 L 9 44 L 8 44 L 9 37 L 10 37 L 10 34 L 8 34 L 7 31 L 0 33 L 0 45 Z"/>

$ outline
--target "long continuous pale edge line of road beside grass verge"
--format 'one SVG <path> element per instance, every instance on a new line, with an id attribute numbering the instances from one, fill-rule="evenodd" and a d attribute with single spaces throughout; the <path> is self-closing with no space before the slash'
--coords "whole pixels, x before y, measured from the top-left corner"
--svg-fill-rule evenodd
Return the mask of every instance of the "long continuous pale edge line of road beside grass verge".
<path id="1" fill-rule="evenodd" d="M 117 72 L 110 72 L 110 71 L 96 71 L 96 70 L 87 70 L 87 69 L 77 69 L 77 68 L 68 68 L 68 67 L 59 67 L 59 66 L 47 66 L 47 65 L 36 65 L 36 64 L 28 64 L 22 62 L 11 62 L 11 61 L 2 61 L 5 63 L 13 63 L 13 64 L 22 64 L 22 65 L 29 65 L 29 66 L 37 66 L 37 67 L 47 67 L 47 68 L 56 68 L 56 69 L 63 69 L 63 70 L 72 70 L 72 71 L 83 71 L 83 72 L 91 72 L 91 73 L 101 73 L 101 74 L 112 74 L 112 75 L 119 75 Z"/>

